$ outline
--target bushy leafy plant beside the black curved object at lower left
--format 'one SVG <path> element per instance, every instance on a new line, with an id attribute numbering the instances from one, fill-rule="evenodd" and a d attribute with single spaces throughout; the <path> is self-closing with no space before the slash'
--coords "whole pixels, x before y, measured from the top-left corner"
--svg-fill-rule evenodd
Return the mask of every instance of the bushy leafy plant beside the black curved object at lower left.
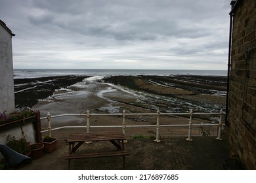
<path id="1" fill-rule="evenodd" d="M 8 135 L 6 145 L 20 154 L 24 154 L 26 156 L 30 155 L 30 143 L 26 141 L 25 137 L 22 137 L 19 140 L 17 140 L 14 136 Z"/>

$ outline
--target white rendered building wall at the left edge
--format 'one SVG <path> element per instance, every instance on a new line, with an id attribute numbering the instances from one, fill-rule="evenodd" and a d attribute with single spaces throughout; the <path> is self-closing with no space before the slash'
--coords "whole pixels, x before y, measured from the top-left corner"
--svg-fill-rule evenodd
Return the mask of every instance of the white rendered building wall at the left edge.
<path id="1" fill-rule="evenodd" d="M 0 24 L 0 112 L 15 111 L 12 35 Z"/>

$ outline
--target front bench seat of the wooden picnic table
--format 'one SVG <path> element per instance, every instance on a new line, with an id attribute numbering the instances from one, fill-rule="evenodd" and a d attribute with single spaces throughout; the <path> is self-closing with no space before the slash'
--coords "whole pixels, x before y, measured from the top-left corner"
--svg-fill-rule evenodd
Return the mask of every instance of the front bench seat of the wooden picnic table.
<path id="1" fill-rule="evenodd" d="M 125 156 L 129 155 L 126 150 L 119 150 L 114 152 L 96 152 L 96 153 L 86 153 L 86 154 L 68 154 L 65 159 L 68 159 L 68 168 L 70 169 L 71 159 L 84 159 L 84 158 L 100 158 L 109 156 L 123 156 L 123 169 L 125 169 Z"/>

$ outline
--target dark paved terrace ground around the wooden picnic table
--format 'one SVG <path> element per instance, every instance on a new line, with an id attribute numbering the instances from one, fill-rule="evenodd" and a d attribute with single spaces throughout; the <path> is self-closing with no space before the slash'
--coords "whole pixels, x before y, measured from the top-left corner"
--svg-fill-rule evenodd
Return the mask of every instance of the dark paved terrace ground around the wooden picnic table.
<path id="1" fill-rule="evenodd" d="M 68 153 L 66 137 L 68 132 L 58 132 L 58 148 L 52 153 L 43 153 L 39 159 L 33 159 L 30 165 L 22 170 L 66 170 L 68 160 L 64 156 Z M 154 139 L 132 139 L 127 137 L 125 149 L 129 156 L 125 158 L 127 170 L 220 170 L 224 160 L 230 158 L 230 146 L 227 139 L 219 141 L 216 137 L 193 137 L 193 141 L 186 141 L 186 137 L 161 137 L 161 142 Z M 115 148 L 110 142 L 93 142 L 83 144 L 83 148 L 95 150 Z M 113 170 L 123 169 L 122 158 L 87 158 L 71 161 L 71 169 L 77 170 Z"/>

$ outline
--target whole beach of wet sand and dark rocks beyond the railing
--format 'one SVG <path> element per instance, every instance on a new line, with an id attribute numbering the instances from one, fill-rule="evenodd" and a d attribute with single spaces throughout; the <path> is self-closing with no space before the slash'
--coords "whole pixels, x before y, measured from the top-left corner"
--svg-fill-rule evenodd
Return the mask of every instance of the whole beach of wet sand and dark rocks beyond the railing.
<path id="1" fill-rule="evenodd" d="M 14 80 L 16 106 L 33 108 L 41 117 L 59 114 L 219 112 L 225 106 L 224 76 L 51 76 Z M 22 86 L 23 88 L 20 88 Z M 26 86 L 26 87 L 25 87 Z M 23 91 L 22 91 L 23 90 Z M 195 123 L 205 122 L 195 118 Z M 206 120 L 215 118 L 207 117 Z M 121 125 L 121 116 L 91 116 L 91 125 Z M 127 116 L 127 125 L 156 124 L 154 116 Z M 188 116 L 161 116 L 161 124 L 188 124 Z M 52 119 L 52 127 L 86 125 L 85 116 Z M 47 129 L 46 120 L 41 121 Z M 92 130 L 100 130 L 94 128 Z M 108 130 L 112 130 L 108 128 Z M 127 129 L 127 135 L 152 135 L 156 129 Z M 195 131 L 198 134 L 198 130 Z M 216 135 L 216 132 L 214 132 Z M 153 134 L 154 135 L 154 134 Z M 165 129 L 161 135 L 187 135 L 187 129 Z"/>

